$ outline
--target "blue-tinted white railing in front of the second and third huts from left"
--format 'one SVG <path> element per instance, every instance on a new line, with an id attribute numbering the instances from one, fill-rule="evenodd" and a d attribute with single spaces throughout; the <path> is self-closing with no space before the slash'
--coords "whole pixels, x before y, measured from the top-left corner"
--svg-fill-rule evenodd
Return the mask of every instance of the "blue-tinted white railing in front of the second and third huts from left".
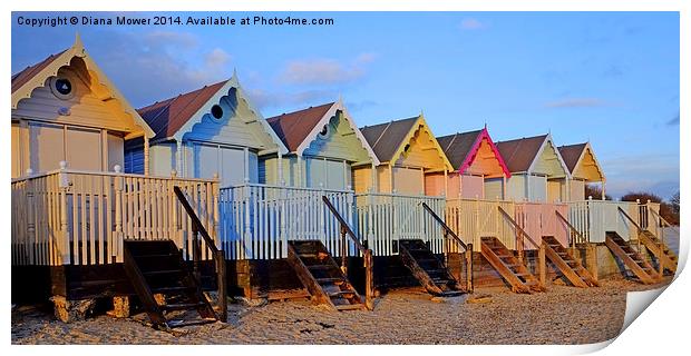
<path id="1" fill-rule="evenodd" d="M 220 235 L 226 259 L 288 257 L 288 240 L 321 240 L 340 256 L 340 226 L 322 196 L 348 224 L 353 221 L 351 190 L 245 184 L 221 188 Z M 354 254 L 354 249 L 350 249 Z"/>

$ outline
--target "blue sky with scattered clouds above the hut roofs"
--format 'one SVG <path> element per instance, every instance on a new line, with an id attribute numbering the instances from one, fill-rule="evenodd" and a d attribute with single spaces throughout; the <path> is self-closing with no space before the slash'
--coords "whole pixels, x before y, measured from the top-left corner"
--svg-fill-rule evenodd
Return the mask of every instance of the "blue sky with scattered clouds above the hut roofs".
<path id="1" fill-rule="evenodd" d="M 57 26 L 19 17 L 263 16 L 331 26 Z M 115 21 L 115 20 L 114 20 Z M 12 13 L 11 71 L 79 32 L 135 107 L 228 79 L 264 117 L 342 98 L 359 126 L 424 112 L 437 136 L 588 141 L 607 194 L 679 190 L 677 12 Z"/>

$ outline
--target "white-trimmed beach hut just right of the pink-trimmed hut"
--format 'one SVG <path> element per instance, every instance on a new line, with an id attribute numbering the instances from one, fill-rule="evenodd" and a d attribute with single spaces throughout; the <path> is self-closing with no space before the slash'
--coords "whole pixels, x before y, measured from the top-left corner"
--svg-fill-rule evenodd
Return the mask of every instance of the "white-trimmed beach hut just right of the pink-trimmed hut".
<path id="1" fill-rule="evenodd" d="M 497 149 L 512 174 L 506 187 L 507 199 L 564 201 L 562 186 L 570 172 L 552 135 L 500 141 Z"/>

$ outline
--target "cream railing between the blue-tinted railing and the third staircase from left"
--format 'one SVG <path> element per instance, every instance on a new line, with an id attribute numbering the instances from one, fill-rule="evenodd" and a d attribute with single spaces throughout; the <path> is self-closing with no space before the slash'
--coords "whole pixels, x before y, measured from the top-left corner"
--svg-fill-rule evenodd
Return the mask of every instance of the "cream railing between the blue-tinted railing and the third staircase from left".
<path id="1" fill-rule="evenodd" d="M 358 235 L 374 256 L 397 253 L 396 241 L 421 239 L 436 254 L 444 253 L 444 234 L 434 217 L 425 211 L 426 202 L 444 216 L 445 199 L 428 196 L 364 192 L 356 195 Z"/>

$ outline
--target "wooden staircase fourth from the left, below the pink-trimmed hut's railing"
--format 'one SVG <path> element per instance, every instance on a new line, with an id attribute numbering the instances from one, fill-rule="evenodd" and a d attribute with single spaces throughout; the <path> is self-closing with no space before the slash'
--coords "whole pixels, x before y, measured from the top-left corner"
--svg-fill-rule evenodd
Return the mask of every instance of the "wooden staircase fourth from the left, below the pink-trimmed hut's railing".
<path id="1" fill-rule="evenodd" d="M 481 253 L 514 293 L 545 291 L 539 280 L 496 237 L 481 238 Z"/>

